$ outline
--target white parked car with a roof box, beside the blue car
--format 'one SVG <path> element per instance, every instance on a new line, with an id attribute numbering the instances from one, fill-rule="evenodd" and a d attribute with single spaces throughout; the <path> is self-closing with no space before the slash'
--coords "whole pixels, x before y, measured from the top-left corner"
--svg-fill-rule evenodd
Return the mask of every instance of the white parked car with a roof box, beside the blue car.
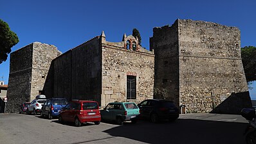
<path id="1" fill-rule="evenodd" d="M 42 104 L 46 101 L 45 95 L 37 95 L 34 100 L 28 105 L 26 109 L 27 114 L 33 113 L 33 115 L 37 115 L 37 113 L 41 113 Z"/>

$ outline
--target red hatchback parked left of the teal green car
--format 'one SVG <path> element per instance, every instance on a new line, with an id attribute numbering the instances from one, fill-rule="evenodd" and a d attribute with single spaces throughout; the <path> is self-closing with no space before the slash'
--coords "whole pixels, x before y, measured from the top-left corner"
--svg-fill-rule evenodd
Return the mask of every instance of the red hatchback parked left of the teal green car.
<path id="1" fill-rule="evenodd" d="M 89 100 L 73 100 L 69 102 L 59 114 L 59 122 L 75 122 L 75 126 L 94 122 L 100 124 L 100 110 L 98 102 Z"/>

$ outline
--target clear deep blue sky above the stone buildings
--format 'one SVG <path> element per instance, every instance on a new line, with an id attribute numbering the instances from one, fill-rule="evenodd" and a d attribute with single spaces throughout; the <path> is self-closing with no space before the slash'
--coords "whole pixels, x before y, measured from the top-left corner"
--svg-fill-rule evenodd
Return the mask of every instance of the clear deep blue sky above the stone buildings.
<path id="1" fill-rule="evenodd" d="M 123 33 L 131 35 L 137 28 L 142 46 L 149 49 L 154 27 L 172 24 L 176 19 L 206 20 L 241 30 L 241 46 L 256 46 L 255 0 L 186 0 L 186 1 L 13 1 L 0 2 L 0 19 L 19 36 L 12 51 L 42 42 L 68 51 L 105 31 L 110 42 L 120 42 Z M 8 83 L 10 55 L 0 64 Z M 253 83 L 256 89 L 256 83 Z M 256 99 L 256 90 L 251 90 Z"/>

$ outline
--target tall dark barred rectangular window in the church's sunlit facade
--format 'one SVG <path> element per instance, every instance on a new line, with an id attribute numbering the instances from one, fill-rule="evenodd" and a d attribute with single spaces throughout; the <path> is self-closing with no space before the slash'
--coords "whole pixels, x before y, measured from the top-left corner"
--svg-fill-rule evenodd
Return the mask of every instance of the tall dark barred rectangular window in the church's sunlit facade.
<path id="1" fill-rule="evenodd" d="M 136 76 L 127 76 L 127 99 L 136 99 Z"/>

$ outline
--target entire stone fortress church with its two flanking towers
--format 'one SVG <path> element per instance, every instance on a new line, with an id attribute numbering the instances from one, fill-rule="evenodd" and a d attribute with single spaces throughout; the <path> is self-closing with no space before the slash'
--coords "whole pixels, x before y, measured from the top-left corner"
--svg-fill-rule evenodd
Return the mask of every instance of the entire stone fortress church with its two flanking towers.
<path id="1" fill-rule="evenodd" d="M 11 54 L 7 111 L 41 93 L 100 106 L 164 98 L 187 113 L 239 113 L 251 107 L 240 43 L 235 27 L 181 19 L 153 29 L 150 51 L 132 35 L 107 42 L 103 31 L 64 54 L 34 42 Z"/>

